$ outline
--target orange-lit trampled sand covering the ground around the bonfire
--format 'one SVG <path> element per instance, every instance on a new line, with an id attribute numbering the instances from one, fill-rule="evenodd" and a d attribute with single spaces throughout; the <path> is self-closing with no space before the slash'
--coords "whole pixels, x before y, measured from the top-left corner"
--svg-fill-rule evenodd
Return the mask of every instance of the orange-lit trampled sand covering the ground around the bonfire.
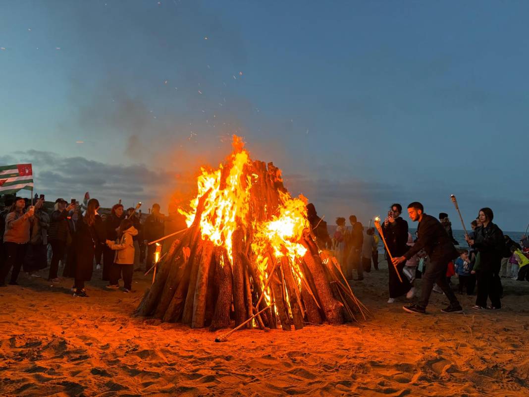
<path id="1" fill-rule="evenodd" d="M 131 317 L 135 292 L 106 291 L 95 272 L 89 297 L 71 281 L 19 279 L 0 288 L 1 396 L 527 396 L 529 283 L 504 279 L 504 309 L 428 315 L 387 304 L 387 267 L 352 285 L 372 309 L 361 324 L 300 331 L 191 330 Z M 45 272 L 42 273 L 45 275 Z M 418 284 L 420 281 L 418 282 Z"/>

